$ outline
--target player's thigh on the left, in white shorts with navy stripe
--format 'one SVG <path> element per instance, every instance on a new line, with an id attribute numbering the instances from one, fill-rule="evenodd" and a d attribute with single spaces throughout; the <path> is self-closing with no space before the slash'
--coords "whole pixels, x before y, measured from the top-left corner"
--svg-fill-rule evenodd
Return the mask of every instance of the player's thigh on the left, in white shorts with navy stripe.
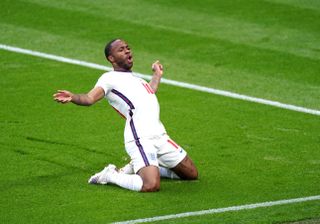
<path id="1" fill-rule="evenodd" d="M 148 139 L 139 139 L 125 144 L 134 172 L 148 166 L 158 167 L 157 148 Z"/>

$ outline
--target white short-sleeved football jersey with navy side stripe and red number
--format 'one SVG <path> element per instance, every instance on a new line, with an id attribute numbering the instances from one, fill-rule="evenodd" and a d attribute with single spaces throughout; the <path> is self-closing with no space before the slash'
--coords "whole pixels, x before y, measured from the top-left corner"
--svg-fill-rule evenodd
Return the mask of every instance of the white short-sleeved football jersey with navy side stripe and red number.
<path id="1" fill-rule="evenodd" d="M 131 72 L 104 73 L 95 87 L 104 89 L 105 98 L 125 119 L 125 142 L 166 133 L 160 108 L 150 85 Z"/>

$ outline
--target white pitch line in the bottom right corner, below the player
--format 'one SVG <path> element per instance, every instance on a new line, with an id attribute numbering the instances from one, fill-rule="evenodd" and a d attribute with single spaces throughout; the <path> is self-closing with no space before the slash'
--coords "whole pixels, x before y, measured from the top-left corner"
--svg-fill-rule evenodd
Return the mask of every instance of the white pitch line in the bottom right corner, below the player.
<path id="1" fill-rule="evenodd" d="M 272 207 L 276 205 L 286 205 L 286 204 L 294 204 L 294 203 L 316 201 L 316 200 L 320 200 L 320 195 L 304 197 L 304 198 L 279 200 L 279 201 L 268 201 L 268 202 L 232 206 L 232 207 L 226 207 L 226 208 L 215 208 L 215 209 L 201 210 L 201 211 L 195 211 L 195 212 L 185 212 L 185 213 L 172 214 L 172 215 L 155 216 L 152 218 L 113 222 L 112 224 L 148 223 L 148 222 L 163 221 L 168 219 L 178 219 L 178 218 L 185 218 L 190 216 L 200 216 L 200 215 L 217 214 L 217 213 L 225 213 L 225 212 L 232 212 L 232 211 L 249 210 L 249 209 L 255 209 L 255 208 L 265 208 L 265 207 Z"/>

